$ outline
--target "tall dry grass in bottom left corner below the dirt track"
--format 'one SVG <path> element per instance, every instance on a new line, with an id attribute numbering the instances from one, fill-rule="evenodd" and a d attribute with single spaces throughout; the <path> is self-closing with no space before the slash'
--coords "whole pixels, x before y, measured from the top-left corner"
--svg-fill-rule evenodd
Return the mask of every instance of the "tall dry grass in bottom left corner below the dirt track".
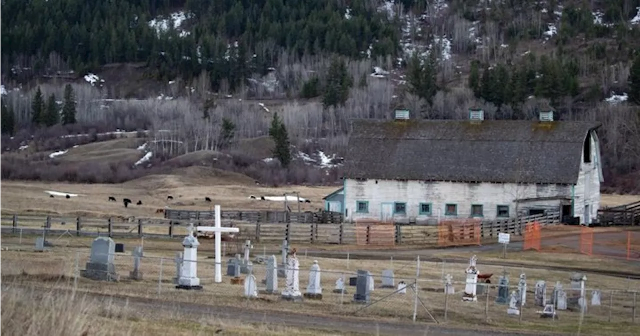
<path id="1" fill-rule="evenodd" d="M 268 323 L 225 321 L 178 310 L 133 309 L 82 295 L 74 298 L 70 293 L 40 293 L 11 284 L 0 291 L 0 302 L 0 336 L 335 335 Z"/>

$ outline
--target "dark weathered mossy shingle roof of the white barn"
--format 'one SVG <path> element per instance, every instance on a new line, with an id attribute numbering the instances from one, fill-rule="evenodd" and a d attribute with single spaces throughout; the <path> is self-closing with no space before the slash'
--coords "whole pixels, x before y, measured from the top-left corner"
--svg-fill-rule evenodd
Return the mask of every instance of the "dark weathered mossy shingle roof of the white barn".
<path id="1" fill-rule="evenodd" d="M 346 178 L 574 184 L 585 121 L 360 119 Z"/>

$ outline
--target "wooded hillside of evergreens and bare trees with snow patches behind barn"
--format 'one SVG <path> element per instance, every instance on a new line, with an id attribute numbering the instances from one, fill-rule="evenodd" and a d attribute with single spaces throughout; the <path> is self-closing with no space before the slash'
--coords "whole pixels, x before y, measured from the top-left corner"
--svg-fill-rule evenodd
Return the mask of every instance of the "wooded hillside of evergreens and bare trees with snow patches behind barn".
<path id="1" fill-rule="evenodd" d="M 168 137 L 155 149 L 158 163 L 200 150 L 239 157 L 240 142 L 268 139 L 277 112 L 292 154 L 323 148 L 343 155 L 353 118 L 388 118 L 406 108 L 412 118 L 464 119 L 474 106 L 491 119 L 532 119 L 550 106 L 556 119 L 604 124 L 607 187 L 628 192 L 640 164 L 638 6 L 640 0 L 5 0 L 0 145 L 14 150 L 34 135 L 42 150 L 57 150 L 73 144 L 54 135 L 169 130 L 156 135 Z M 132 75 L 112 78 L 109 71 Z M 87 84 L 88 73 L 104 83 Z M 67 84 L 74 123 L 63 118 Z M 229 125 L 232 139 L 223 136 Z M 295 157 L 269 174 L 258 172 L 262 157 L 228 169 L 277 175 L 278 183 L 328 181 Z M 12 160 L 3 176 L 17 176 L 12 167 L 27 159 Z"/>

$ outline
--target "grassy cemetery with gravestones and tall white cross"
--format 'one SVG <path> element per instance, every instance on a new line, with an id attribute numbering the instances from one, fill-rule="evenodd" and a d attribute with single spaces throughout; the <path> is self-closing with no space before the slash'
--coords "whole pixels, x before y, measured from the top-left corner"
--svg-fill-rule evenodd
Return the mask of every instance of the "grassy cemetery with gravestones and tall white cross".
<path id="1" fill-rule="evenodd" d="M 482 250 L 433 252 L 403 260 L 394 259 L 391 250 L 386 261 L 319 257 L 307 252 L 309 246 L 286 240 L 278 245 L 250 240 L 228 244 L 220 240 L 221 233 L 237 232 L 237 228 L 221 227 L 220 220 L 215 224 L 190 225 L 181 241 L 100 236 L 67 243 L 51 238 L 47 245 L 42 237 L 24 239 L 19 248 L 14 242 L 13 248 L 0 252 L 0 273 L 4 280 L 30 286 L 72 287 L 80 293 L 236 307 L 264 314 L 534 333 L 573 332 L 582 325 L 584 334 L 632 335 L 637 328 L 640 281 L 605 271 L 580 271 L 580 267 L 591 270 L 602 264 L 640 272 L 633 263 L 527 251 L 509 253 L 509 261 L 520 266 L 500 266 L 500 251 Z M 197 231 L 212 233 L 214 241 L 199 241 Z M 349 252 L 355 251 L 344 254 Z M 453 254 L 465 260 L 433 261 L 434 256 Z M 576 270 L 550 268 L 568 263 Z M 51 282 L 52 277 L 67 281 Z"/>

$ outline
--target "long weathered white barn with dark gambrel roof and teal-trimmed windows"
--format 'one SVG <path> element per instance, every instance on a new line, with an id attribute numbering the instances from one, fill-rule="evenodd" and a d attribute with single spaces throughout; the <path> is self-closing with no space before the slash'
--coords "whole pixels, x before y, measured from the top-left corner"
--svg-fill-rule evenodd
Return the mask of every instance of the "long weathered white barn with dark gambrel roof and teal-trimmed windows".
<path id="1" fill-rule="evenodd" d="M 561 211 L 593 222 L 602 165 L 596 122 L 396 119 L 353 122 L 344 176 L 346 221 L 433 223 Z M 577 218 L 576 218 L 577 219 Z"/>

